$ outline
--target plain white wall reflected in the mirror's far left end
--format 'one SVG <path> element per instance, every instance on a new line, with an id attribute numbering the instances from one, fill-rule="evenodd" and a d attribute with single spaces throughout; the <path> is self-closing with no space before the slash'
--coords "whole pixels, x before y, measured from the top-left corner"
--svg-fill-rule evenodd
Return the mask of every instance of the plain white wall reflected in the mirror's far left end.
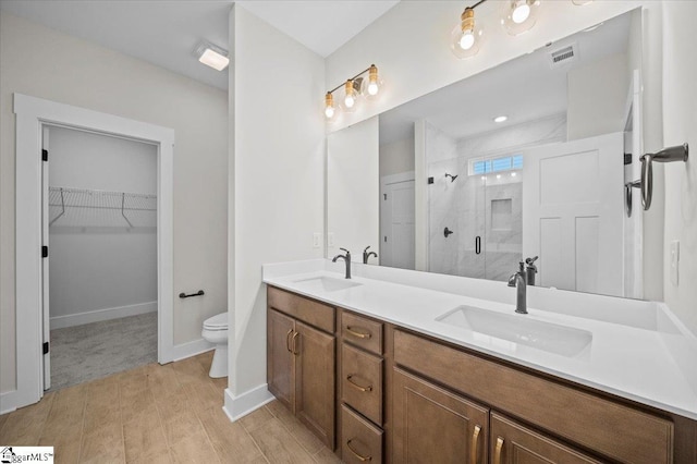
<path id="1" fill-rule="evenodd" d="M 366 246 L 380 246 L 378 119 L 371 118 L 327 137 L 328 256 L 343 254 L 363 262 Z"/>

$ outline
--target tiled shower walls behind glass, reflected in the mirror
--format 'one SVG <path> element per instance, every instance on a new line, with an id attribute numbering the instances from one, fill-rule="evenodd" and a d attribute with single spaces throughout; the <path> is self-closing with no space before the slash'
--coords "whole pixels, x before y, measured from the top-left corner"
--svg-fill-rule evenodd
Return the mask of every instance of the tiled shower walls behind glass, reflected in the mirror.
<path id="1" fill-rule="evenodd" d="M 523 243 L 522 172 L 502 173 L 500 179 L 470 176 L 469 159 L 564 142 L 565 133 L 563 114 L 463 139 L 427 124 L 427 172 L 433 178 L 428 186 L 431 272 L 503 281 L 517 269 Z M 445 173 L 457 178 L 451 181 Z M 448 237 L 445 228 L 453 232 Z"/>

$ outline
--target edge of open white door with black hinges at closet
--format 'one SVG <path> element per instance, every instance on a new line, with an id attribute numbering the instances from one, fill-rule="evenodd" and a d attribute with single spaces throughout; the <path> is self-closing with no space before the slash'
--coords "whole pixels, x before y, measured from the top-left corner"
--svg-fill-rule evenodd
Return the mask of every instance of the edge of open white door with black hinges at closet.
<path id="1" fill-rule="evenodd" d="M 48 223 L 49 223 L 49 194 L 48 194 L 48 143 L 49 131 L 46 125 L 41 126 L 41 149 L 44 162 L 41 162 L 41 244 L 48 251 Z M 41 252 L 44 253 L 44 251 Z M 41 259 L 41 317 L 44 321 L 42 346 L 44 346 L 44 390 L 51 388 L 51 320 L 49 314 L 49 282 L 48 282 L 48 253 Z"/>

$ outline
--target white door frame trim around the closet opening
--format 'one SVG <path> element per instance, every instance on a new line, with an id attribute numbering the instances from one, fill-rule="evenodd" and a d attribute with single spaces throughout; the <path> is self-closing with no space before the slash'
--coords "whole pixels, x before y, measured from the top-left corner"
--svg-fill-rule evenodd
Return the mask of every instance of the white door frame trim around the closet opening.
<path id="1" fill-rule="evenodd" d="M 174 357 L 173 162 L 174 130 L 41 98 L 14 94 L 16 117 L 16 390 L 3 394 L 1 411 L 38 402 L 44 395 L 42 178 L 45 124 L 154 144 L 157 161 L 158 362 Z"/>

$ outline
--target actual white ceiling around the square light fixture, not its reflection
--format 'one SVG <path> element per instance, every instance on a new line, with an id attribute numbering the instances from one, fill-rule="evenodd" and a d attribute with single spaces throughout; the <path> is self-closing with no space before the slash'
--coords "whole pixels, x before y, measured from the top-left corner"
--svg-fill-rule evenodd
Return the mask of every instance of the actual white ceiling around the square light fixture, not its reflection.
<path id="1" fill-rule="evenodd" d="M 399 0 L 239 3 L 322 57 Z M 0 0 L 0 9 L 194 80 L 228 88 L 228 72 L 200 64 L 201 40 L 228 49 L 232 0 Z"/>

